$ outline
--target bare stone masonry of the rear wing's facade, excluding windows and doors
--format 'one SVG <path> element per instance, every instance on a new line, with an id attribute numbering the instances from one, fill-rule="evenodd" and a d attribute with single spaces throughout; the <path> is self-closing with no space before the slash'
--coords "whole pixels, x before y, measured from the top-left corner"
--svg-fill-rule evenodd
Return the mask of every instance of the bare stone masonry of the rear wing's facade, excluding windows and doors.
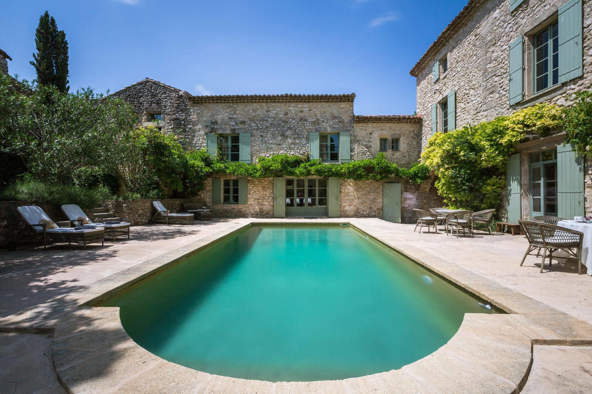
<path id="1" fill-rule="evenodd" d="M 162 114 L 163 130 L 179 135 L 185 148 L 206 147 L 206 133 L 250 133 L 251 158 L 274 154 L 307 156 L 309 133 L 350 133 L 352 160 L 369 159 L 379 153 L 379 138 L 387 136 L 388 160 L 402 167 L 420 157 L 422 117 L 388 115 L 355 117 L 355 95 L 271 95 L 271 96 L 191 96 L 189 93 L 151 79 L 144 79 L 115 96 L 130 102 L 144 125 L 150 114 Z M 391 150 L 392 138 L 400 138 L 400 150 Z M 218 175 L 222 179 L 236 176 Z M 431 182 L 431 181 L 430 181 Z M 382 183 L 376 181 L 340 182 L 340 213 L 343 217 L 382 217 Z M 211 208 L 214 217 L 273 217 L 273 179 L 247 180 L 247 204 L 213 205 L 213 184 L 208 179 L 197 199 Z M 413 208 L 440 206 L 435 189 L 420 190 L 419 185 L 403 182 L 401 215 L 413 221 Z M 163 202 L 164 203 L 164 202 Z M 153 214 L 151 201 L 110 202 L 108 208 L 134 224 Z M 419 204 L 419 205 L 415 205 Z M 169 208 L 169 205 L 166 205 Z M 175 209 L 174 207 L 172 209 Z"/>

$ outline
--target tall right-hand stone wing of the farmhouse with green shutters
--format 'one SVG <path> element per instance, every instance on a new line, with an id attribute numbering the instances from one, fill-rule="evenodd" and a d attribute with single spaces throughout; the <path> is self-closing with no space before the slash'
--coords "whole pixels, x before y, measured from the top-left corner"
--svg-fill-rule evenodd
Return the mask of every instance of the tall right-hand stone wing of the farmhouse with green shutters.
<path id="1" fill-rule="evenodd" d="M 592 88 L 590 0 L 471 0 L 411 69 L 422 146 L 434 133 Z M 590 159 L 565 133 L 532 137 L 507 163 L 507 219 L 592 212 Z M 502 212 L 503 213 L 503 212 Z"/>

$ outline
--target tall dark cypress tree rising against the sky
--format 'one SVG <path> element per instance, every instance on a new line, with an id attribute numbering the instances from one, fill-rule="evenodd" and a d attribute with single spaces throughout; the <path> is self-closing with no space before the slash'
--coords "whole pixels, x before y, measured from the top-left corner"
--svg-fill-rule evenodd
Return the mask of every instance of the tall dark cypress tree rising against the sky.
<path id="1" fill-rule="evenodd" d="M 41 15 L 35 32 L 37 53 L 33 54 L 31 65 L 37 72 L 37 83 L 53 85 L 61 92 L 68 86 L 68 41 L 63 30 L 57 30 L 56 20 L 49 12 Z"/>

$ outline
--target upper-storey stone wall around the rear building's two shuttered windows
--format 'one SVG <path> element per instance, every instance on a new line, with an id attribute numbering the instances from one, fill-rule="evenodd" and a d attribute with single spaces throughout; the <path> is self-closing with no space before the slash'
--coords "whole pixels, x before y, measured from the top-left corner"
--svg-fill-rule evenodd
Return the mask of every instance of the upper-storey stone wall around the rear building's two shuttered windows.
<path id="1" fill-rule="evenodd" d="M 251 157 L 289 153 L 307 156 L 308 133 L 349 131 L 353 102 L 205 103 L 191 108 L 195 148 L 205 148 L 205 133 L 250 133 Z"/>

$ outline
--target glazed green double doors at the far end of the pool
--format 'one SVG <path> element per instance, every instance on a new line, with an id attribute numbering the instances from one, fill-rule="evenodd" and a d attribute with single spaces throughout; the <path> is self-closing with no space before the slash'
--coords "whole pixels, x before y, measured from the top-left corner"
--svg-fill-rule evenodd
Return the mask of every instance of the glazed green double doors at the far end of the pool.
<path id="1" fill-rule="evenodd" d="M 327 216 L 326 178 L 286 178 L 286 216 Z"/>

